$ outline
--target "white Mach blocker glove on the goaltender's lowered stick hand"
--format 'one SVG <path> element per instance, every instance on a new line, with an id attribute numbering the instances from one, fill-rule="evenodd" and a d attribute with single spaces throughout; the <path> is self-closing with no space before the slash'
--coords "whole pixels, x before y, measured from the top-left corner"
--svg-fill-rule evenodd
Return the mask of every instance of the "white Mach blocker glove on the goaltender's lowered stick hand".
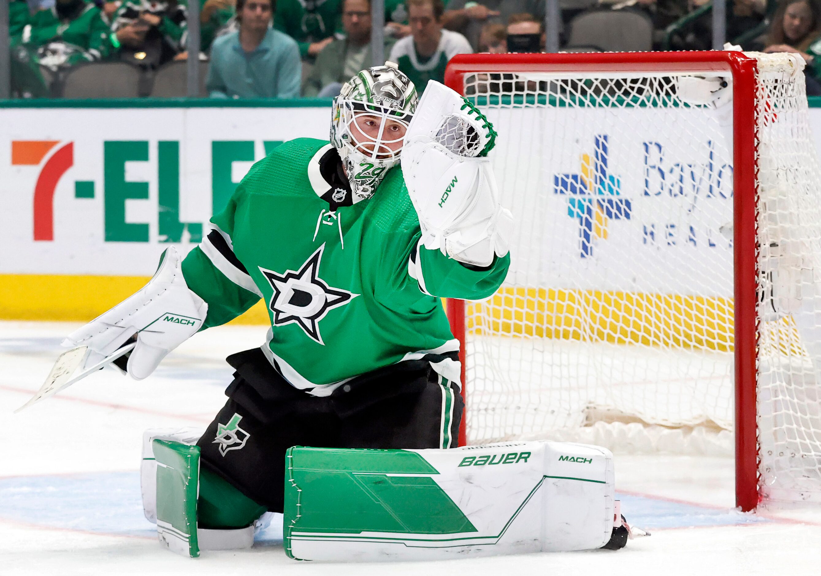
<path id="1" fill-rule="evenodd" d="M 157 273 L 140 292 L 72 332 L 62 344 L 88 346 L 87 367 L 136 335 L 136 346 L 128 358 L 128 375 L 142 380 L 167 353 L 200 329 L 207 312 L 208 304 L 190 291 L 182 277 L 180 255 L 169 247 Z"/>

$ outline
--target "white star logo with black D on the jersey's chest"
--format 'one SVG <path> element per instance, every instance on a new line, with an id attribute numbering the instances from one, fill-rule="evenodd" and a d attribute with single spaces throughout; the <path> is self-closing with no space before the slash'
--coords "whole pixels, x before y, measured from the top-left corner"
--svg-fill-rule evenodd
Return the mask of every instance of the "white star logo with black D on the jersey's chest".
<path id="1" fill-rule="evenodd" d="M 331 288 L 319 278 L 317 274 L 324 249 L 323 244 L 296 272 L 286 270 L 285 274 L 277 274 L 259 267 L 259 271 L 273 288 L 273 296 L 268 303 L 273 312 L 273 325 L 296 324 L 305 330 L 310 339 L 323 345 L 319 334 L 319 320 L 328 311 L 344 306 L 352 298 L 359 296 L 342 288 Z"/>

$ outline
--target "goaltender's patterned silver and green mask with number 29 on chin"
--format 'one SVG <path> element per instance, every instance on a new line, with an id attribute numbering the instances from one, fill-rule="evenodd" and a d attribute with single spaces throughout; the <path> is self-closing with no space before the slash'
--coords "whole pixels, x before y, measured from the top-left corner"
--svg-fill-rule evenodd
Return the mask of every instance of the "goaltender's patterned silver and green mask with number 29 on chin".
<path id="1" fill-rule="evenodd" d="M 354 201 L 374 195 L 399 162 L 416 88 L 393 62 L 361 71 L 333 100 L 331 142 L 345 165 Z"/>

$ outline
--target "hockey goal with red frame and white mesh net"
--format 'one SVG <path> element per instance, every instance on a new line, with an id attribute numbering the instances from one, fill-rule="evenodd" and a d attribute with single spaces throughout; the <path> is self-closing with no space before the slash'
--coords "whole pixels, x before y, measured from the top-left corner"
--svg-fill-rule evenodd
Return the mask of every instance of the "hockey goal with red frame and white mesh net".
<path id="1" fill-rule="evenodd" d="M 821 500 L 821 170 L 802 68 L 741 53 L 452 62 L 447 83 L 497 128 L 516 219 L 502 288 L 449 305 L 469 443 L 735 449 L 745 509 Z M 692 76 L 727 88 L 699 100 Z"/>

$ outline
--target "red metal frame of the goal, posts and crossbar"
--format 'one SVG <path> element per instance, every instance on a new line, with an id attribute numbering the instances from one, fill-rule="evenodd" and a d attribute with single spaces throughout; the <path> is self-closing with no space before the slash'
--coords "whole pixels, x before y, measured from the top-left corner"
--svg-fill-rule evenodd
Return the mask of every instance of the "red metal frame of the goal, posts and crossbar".
<path id="1" fill-rule="evenodd" d="M 465 76 L 477 72 L 704 72 L 733 78 L 733 247 L 735 335 L 736 505 L 759 504 L 759 446 L 756 431 L 756 128 L 757 61 L 741 52 L 460 54 L 448 63 L 445 84 L 465 94 Z M 508 135 L 501 135 L 500 140 Z M 511 255 L 516 257 L 515 254 Z M 470 406 L 466 381 L 465 302 L 449 300 L 447 315 L 461 341 L 462 394 Z M 466 444 L 466 408 L 460 445 Z"/>

